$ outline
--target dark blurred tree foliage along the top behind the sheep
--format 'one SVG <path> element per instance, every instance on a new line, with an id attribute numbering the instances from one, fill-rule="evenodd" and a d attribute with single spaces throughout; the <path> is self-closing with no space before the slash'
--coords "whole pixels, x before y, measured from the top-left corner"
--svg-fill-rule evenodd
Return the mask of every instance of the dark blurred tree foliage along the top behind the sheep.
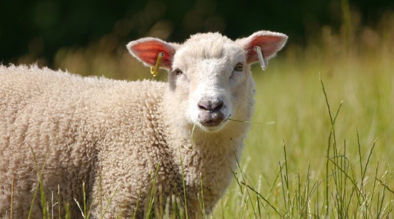
<path id="1" fill-rule="evenodd" d="M 230 38 L 258 30 L 281 31 L 304 44 L 328 25 L 343 24 L 343 2 L 358 23 L 374 26 L 393 10 L 393 0 L 5 0 L 0 4 L 0 61 L 21 56 L 53 65 L 62 47 L 84 47 L 108 35 L 114 47 L 143 36 L 183 41 L 190 34 L 220 31 Z"/>

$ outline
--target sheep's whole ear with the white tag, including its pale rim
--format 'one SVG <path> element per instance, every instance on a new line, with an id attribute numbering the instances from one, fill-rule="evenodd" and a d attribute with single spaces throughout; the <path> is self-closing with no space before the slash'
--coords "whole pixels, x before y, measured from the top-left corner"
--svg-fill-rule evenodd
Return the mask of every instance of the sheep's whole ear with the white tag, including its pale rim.
<path id="1" fill-rule="evenodd" d="M 287 38 L 287 35 L 279 32 L 258 31 L 249 37 L 237 39 L 235 42 L 245 50 L 247 63 L 256 63 L 259 62 L 259 58 L 254 50 L 255 46 L 261 47 L 264 61 L 267 62 L 285 46 Z"/>

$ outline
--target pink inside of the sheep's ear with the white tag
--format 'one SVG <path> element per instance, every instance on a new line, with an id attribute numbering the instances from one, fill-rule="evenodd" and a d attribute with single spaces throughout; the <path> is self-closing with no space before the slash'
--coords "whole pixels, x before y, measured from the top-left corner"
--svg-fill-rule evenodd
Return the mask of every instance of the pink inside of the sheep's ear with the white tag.
<path id="1" fill-rule="evenodd" d="M 248 63 L 258 61 L 257 53 L 253 50 L 255 46 L 262 48 L 264 59 L 269 59 L 281 48 L 283 39 L 280 36 L 255 36 L 245 48 L 248 56 Z"/>

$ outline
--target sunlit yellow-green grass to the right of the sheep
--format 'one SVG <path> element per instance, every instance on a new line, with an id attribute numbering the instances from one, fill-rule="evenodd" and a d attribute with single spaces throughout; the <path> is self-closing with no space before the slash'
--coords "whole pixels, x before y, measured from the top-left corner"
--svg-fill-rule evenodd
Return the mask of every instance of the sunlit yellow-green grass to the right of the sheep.
<path id="1" fill-rule="evenodd" d="M 275 124 L 253 125 L 240 162 L 250 182 L 239 176 L 241 188 L 236 182 L 232 184 L 217 206 L 215 218 L 260 218 L 260 215 L 262 218 L 268 215 L 317 218 L 318 214 L 326 213 L 329 218 L 393 217 L 394 182 L 390 166 L 394 153 L 393 54 L 374 57 L 345 53 L 335 59 L 319 54 L 297 57 L 298 60 L 296 56 L 275 60 L 265 72 L 259 72 L 255 66 L 254 121 L 275 121 Z M 343 101 L 334 125 L 336 152 L 332 136 L 329 154 L 331 122 L 319 73 L 325 83 L 332 117 Z M 372 155 L 368 157 L 376 138 Z M 345 158 L 339 156 L 345 153 L 346 164 Z M 330 158 L 328 177 L 327 157 Z M 287 164 L 282 169 L 282 178 L 279 162 Z M 247 193 L 241 183 L 245 181 L 260 191 L 280 216 L 263 198 L 260 205 L 265 206 L 260 207 L 260 214 L 256 194 L 250 188 Z M 252 202 L 247 201 L 249 194 Z"/>

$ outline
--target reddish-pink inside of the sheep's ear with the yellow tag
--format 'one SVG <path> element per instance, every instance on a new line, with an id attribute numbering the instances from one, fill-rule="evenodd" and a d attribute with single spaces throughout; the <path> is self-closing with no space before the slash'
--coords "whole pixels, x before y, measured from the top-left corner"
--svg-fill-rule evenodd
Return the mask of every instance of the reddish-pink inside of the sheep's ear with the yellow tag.
<path id="1" fill-rule="evenodd" d="M 164 52 L 164 57 L 162 59 L 162 66 L 171 66 L 171 57 L 174 55 L 175 50 L 170 46 L 165 45 L 158 41 L 146 41 L 137 43 L 131 46 L 131 51 L 144 63 L 149 65 L 155 65 L 157 56 L 160 52 Z"/>

